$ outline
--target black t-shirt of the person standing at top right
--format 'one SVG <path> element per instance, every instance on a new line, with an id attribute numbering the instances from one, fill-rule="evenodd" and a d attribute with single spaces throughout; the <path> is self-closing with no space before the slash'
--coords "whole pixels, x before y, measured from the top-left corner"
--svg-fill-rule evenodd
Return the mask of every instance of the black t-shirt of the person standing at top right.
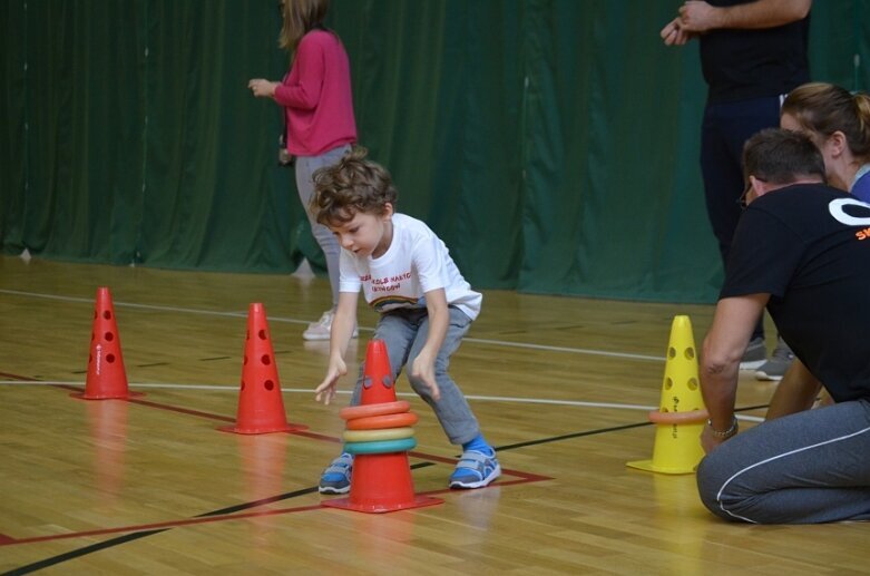
<path id="1" fill-rule="evenodd" d="M 710 0 L 716 7 L 752 0 Z M 803 20 L 757 30 L 719 29 L 701 35 L 701 68 L 710 87 L 707 102 L 722 104 L 786 94 L 810 81 Z"/>

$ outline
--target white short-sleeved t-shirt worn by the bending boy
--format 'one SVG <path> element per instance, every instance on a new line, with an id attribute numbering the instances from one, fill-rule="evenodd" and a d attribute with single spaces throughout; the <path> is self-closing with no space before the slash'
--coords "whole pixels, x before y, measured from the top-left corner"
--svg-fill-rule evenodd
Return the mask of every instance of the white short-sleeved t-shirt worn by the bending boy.
<path id="1" fill-rule="evenodd" d="M 426 307 L 423 295 L 444 289 L 447 303 L 475 320 L 483 296 L 471 290 L 441 238 L 424 223 L 404 214 L 393 214 L 392 223 L 392 242 L 380 257 L 360 257 L 342 248 L 339 290 L 356 293 L 362 287 L 370 306 L 388 312 Z"/>

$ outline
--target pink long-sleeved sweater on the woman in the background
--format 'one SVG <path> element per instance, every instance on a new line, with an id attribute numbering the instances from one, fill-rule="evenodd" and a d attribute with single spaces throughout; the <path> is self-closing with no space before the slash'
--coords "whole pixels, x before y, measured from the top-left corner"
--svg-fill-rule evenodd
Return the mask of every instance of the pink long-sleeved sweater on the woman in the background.
<path id="1" fill-rule="evenodd" d="M 293 67 L 275 88 L 275 101 L 284 107 L 287 150 L 295 156 L 317 156 L 356 141 L 351 66 L 332 32 L 312 30 L 302 37 Z"/>

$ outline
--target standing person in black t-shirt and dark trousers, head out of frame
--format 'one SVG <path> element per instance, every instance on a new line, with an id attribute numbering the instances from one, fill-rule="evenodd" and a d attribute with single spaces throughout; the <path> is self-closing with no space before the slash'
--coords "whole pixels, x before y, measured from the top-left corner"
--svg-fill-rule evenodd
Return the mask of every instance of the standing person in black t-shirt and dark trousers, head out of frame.
<path id="1" fill-rule="evenodd" d="M 707 216 L 723 264 L 740 218 L 743 143 L 780 124 L 780 105 L 809 81 L 808 37 L 812 0 L 687 1 L 661 31 L 666 46 L 697 38 L 708 91 L 701 126 L 701 172 Z M 782 339 L 768 359 L 763 318 L 741 369 L 779 380 L 793 355 Z"/>

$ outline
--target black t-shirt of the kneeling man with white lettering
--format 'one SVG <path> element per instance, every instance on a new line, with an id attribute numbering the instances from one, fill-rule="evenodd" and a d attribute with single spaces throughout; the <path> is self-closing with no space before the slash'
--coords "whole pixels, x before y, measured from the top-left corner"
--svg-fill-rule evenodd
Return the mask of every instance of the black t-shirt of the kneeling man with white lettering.
<path id="1" fill-rule="evenodd" d="M 870 398 L 870 204 L 821 184 L 756 198 L 734 233 L 720 297 L 768 311 L 837 401 Z"/>

